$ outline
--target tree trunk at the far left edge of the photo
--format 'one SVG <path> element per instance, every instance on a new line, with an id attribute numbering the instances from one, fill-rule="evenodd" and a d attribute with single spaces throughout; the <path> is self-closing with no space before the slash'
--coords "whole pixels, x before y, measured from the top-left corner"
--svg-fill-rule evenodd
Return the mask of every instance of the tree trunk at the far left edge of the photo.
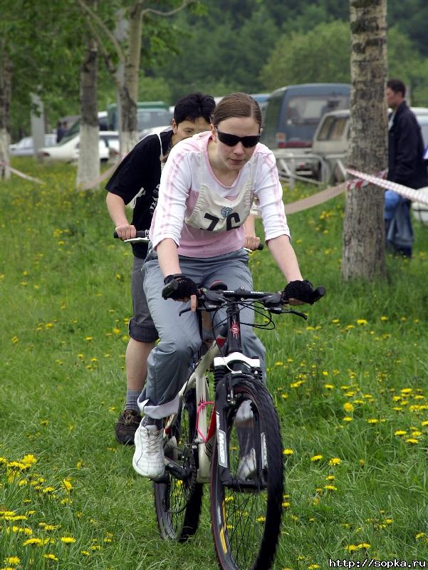
<path id="1" fill-rule="evenodd" d="M 9 180 L 10 109 L 12 64 L 0 45 L 0 180 Z"/>

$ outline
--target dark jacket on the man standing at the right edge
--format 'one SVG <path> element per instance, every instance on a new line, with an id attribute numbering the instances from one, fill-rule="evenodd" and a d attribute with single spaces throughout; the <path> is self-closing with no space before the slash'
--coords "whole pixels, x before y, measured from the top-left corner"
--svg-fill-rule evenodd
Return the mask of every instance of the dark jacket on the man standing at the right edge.
<path id="1" fill-rule="evenodd" d="M 416 189 L 428 186 L 421 128 L 405 101 L 395 112 L 388 145 L 388 180 Z"/>

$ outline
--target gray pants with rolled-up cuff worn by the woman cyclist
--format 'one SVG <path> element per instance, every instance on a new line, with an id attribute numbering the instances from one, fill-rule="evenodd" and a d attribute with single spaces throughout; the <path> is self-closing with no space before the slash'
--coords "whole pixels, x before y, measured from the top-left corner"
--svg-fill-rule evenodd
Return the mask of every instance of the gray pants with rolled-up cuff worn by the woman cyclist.
<path id="1" fill-rule="evenodd" d="M 243 249 L 208 259 L 179 257 L 182 273 L 198 286 L 207 287 L 213 281 L 224 281 L 228 289 L 253 288 L 248 268 L 248 254 Z M 143 413 L 151 418 L 165 418 L 177 411 L 177 394 L 189 371 L 194 353 L 201 345 L 197 315 L 191 312 L 179 316 L 179 311 L 189 303 L 162 299 L 164 278 L 155 253 L 147 257 L 143 266 L 144 290 L 150 314 L 159 333 L 160 342 L 152 350 L 147 361 L 148 373 L 145 389 L 138 398 Z M 214 325 L 224 320 L 226 311 L 221 309 L 214 318 Z M 241 311 L 241 342 L 246 356 L 260 358 L 264 369 L 264 347 L 254 329 L 244 323 L 254 321 L 254 311 Z M 216 328 L 214 331 L 218 331 Z"/>

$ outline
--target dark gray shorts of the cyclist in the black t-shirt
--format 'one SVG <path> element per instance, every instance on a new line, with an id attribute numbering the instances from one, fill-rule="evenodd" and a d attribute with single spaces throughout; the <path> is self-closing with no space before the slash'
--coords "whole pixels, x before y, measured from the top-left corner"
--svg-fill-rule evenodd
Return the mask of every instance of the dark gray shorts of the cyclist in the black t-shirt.
<path id="1" fill-rule="evenodd" d="M 149 307 L 143 289 L 144 278 L 142 266 L 144 259 L 134 257 L 131 277 L 132 309 L 134 316 L 130 319 L 130 337 L 142 343 L 154 343 L 157 340 L 157 330 L 150 316 Z"/>

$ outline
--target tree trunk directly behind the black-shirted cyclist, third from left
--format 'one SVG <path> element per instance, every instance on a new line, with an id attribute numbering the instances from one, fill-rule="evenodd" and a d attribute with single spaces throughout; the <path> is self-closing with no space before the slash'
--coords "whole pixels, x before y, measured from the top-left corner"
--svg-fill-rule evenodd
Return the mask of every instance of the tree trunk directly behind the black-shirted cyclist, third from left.
<path id="1" fill-rule="evenodd" d="M 138 73 L 140 71 L 142 6 L 130 8 L 126 31 L 125 73 L 120 77 L 120 150 L 127 154 L 140 138 L 137 128 Z"/>

